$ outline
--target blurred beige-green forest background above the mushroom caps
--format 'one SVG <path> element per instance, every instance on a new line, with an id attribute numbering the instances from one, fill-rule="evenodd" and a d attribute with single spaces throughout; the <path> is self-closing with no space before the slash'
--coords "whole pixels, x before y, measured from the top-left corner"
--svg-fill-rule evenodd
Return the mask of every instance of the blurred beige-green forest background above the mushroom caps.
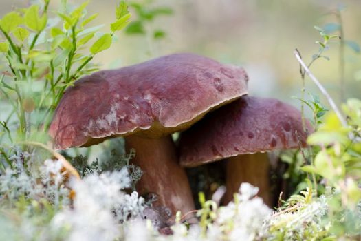
<path id="1" fill-rule="evenodd" d="M 58 2 L 52 1 L 53 7 L 56 8 Z M 78 5 L 83 1 L 69 2 Z M 117 2 L 90 1 L 87 9 L 89 14 L 99 13 L 97 24 L 107 26 L 113 21 Z M 319 48 L 315 41 L 322 40 L 314 25 L 333 28 L 333 23 L 341 23 L 345 40 L 361 41 L 361 1 L 358 0 L 139 0 L 131 3 L 140 3 L 144 9 L 168 8 L 171 14 L 144 21 L 141 31 L 135 29 L 133 34 L 118 35 L 111 49 L 96 56 L 94 62 L 100 63 L 101 68 L 132 65 L 175 52 L 193 52 L 223 63 L 242 65 L 250 76 L 250 94 L 281 98 L 296 106 L 300 103 L 291 96 L 300 96 L 301 78 L 293 52 L 298 48 L 305 62 L 311 61 Z M 29 4 L 28 1 L 1 0 L 0 14 L 14 6 L 21 8 Z M 341 22 L 336 14 L 339 9 Z M 139 14 L 135 8 L 131 8 L 131 12 L 136 21 Z M 153 35 L 157 31 L 162 36 L 155 39 Z M 344 47 L 345 96 L 361 97 L 360 50 L 358 45 L 353 44 L 353 49 L 348 47 Z M 325 55 L 329 60 L 318 59 L 311 70 L 339 102 L 338 39 L 332 41 Z M 306 84 L 307 91 L 319 93 L 308 79 Z"/>

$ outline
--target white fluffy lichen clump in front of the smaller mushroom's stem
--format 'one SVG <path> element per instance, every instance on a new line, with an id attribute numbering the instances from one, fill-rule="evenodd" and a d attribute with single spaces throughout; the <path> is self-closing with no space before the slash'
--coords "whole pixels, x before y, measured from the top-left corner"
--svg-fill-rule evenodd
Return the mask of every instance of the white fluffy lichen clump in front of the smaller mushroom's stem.
<path id="1" fill-rule="evenodd" d="M 124 233 L 125 240 L 256 240 L 265 238 L 266 223 L 272 216 L 272 210 L 263 203 L 263 200 L 256 197 L 258 187 L 243 183 L 239 193 L 234 194 L 234 201 L 227 206 L 217 207 L 212 205 L 212 214 L 206 213 L 211 220 L 199 224 L 190 225 L 176 222 L 171 229 L 173 235 L 159 235 L 151 225 L 146 222 L 134 222 L 127 224 L 127 232 Z M 212 201 L 207 201 L 212 202 Z M 202 216 L 200 210 L 197 216 Z M 210 214 L 210 215 L 209 215 Z M 206 229 L 203 229 L 206 225 Z M 205 230 L 205 232 L 203 231 Z"/>

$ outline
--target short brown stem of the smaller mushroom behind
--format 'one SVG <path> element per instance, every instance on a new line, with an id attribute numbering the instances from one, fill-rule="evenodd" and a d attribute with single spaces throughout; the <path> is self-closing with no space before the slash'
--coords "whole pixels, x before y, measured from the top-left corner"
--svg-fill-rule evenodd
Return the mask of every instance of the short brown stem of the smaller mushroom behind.
<path id="1" fill-rule="evenodd" d="M 232 156 L 226 160 L 226 187 L 223 202 L 233 200 L 233 193 L 239 190 L 242 182 L 259 187 L 258 196 L 267 205 L 271 205 L 270 161 L 267 153 Z"/>

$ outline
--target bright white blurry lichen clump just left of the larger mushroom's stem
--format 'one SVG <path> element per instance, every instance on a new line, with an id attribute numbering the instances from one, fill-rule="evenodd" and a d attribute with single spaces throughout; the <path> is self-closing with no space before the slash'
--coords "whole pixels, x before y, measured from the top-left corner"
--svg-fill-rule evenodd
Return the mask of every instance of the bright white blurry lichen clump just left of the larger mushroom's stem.
<path id="1" fill-rule="evenodd" d="M 145 208 L 138 193 L 122 191 L 131 187 L 127 167 L 120 171 L 89 174 L 73 180 L 73 207 L 54 216 L 52 228 L 67 230 L 67 240 L 116 240 L 122 234 L 120 224 L 137 218 Z"/>

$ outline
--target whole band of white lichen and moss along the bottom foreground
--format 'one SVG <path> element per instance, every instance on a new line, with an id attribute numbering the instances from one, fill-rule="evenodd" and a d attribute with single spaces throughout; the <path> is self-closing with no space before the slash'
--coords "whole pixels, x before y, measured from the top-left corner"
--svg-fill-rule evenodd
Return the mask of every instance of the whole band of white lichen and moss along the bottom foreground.
<path id="1" fill-rule="evenodd" d="M 330 236 L 327 197 L 272 212 L 243 183 L 227 206 L 212 206 L 207 220 L 186 224 L 177 216 L 162 235 L 144 220 L 149 205 L 132 185 L 129 168 L 69 178 L 60 161 L 45 160 L 39 173 L 5 169 L 0 174 L 0 240 L 309 240 Z M 207 201 L 213 202 L 213 201 Z M 214 202 L 215 203 L 215 202 Z M 360 215 L 358 215 L 360 217 Z"/>

